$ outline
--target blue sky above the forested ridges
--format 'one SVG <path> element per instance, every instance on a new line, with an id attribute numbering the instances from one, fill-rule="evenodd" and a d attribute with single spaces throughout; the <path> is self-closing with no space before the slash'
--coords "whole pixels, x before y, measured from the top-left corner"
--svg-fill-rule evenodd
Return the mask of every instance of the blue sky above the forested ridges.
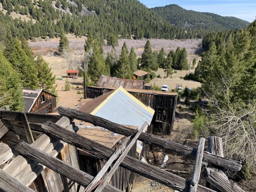
<path id="1" fill-rule="evenodd" d="M 177 4 L 185 9 L 234 16 L 252 22 L 256 16 L 256 0 L 140 0 L 147 7 Z"/>

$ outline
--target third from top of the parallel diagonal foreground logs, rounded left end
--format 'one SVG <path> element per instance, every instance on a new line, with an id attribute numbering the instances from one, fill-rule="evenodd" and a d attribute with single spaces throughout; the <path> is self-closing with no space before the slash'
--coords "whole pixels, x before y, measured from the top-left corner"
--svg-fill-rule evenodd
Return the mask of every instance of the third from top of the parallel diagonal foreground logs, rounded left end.
<path id="1" fill-rule="evenodd" d="M 66 162 L 56 157 L 53 157 L 48 153 L 39 150 L 25 142 L 17 144 L 15 150 L 20 152 L 22 155 L 49 167 L 55 172 L 66 176 L 67 178 L 79 183 L 82 186 L 87 186 L 93 179 L 91 175 L 79 169 L 76 169 L 71 165 L 67 164 Z M 115 189 L 114 187 L 111 187 L 111 191 L 120 192 L 120 190 Z"/>

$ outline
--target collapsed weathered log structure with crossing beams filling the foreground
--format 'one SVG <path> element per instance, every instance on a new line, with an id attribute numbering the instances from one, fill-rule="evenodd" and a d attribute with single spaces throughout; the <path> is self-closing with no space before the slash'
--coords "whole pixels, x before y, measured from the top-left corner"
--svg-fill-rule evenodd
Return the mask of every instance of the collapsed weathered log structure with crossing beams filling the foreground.
<path id="1" fill-rule="evenodd" d="M 195 166 L 196 170 L 194 170 L 196 172 L 194 176 L 196 178 L 195 182 L 130 157 L 126 155 L 127 151 L 125 150 L 123 159 L 122 153 L 116 156 L 114 162 L 120 161 L 121 167 L 155 180 L 177 191 L 190 191 L 190 188 L 194 188 L 192 185 L 196 183 L 196 191 L 213 192 L 212 189 L 197 185 L 198 168 L 201 168 L 199 166 L 201 161 L 208 162 L 213 167 L 216 165 L 234 171 L 239 171 L 242 167 L 241 162 L 203 151 L 202 143 L 204 142 L 200 142 L 198 149 L 192 148 L 158 136 L 141 133 L 138 131 L 140 129 L 130 129 L 77 110 L 59 107 L 58 112 L 61 116 L 25 113 L 27 117 L 26 121 L 28 122 L 27 125 L 29 124 L 27 126 L 22 123 L 24 114 L 20 112 L 0 111 L 0 142 L 7 144 L 12 149 L 4 150 L 8 154 L 4 156 L 8 156 L 8 158 L 0 159 L 1 190 L 34 190 L 40 192 L 83 191 L 95 177 L 99 177 L 99 175 L 91 176 L 80 169 L 81 162 L 79 162 L 77 148 L 105 160 L 109 160 L 115 153 L 115 150 L 77 134 L 76 131 L 79 129 L 79 124 L 74 123 L 74 119 L 103 127 L 114 133 L 131 137 L 131 139 L 135 137 L 135 140 L 138 138 L 138 140 L 144 143 L 169 149 L 182 155 L 196 158 L 196 154 L 198 154 L 198 163 Z M 144 126 L 146 125 L 145 123 Z M 16 128 L 18 131 L 16 131 Z M 25 129 L 29 133 L 31 132 L 32 136 L 31 134 L 26 134 Z M 33 137 L 35 141 L 30 143 L 32 138 L 29 137 Z M 128 146 L 127 150 L 130 149 Z M 10 158 L 12 155 L 14 156 Z M 207 181 L 217 189 L 221 191 L 242 191 L 242 189 L 231 183 L 226 176 L 219 173 L 216 169 L 206 168 L 204 172 Z M 105 176 L 102 175 L 103 180 Z M 2 182 L 3 180 L 5 182 Z M 7 187 L 8 182 L 12 182 L 9 187 Z M 96 190 L 98 185 L 100 185 L 99 182 L 96 186 L 94 185 Z M 131 188 L 132 186 L 129 186 L 126 190 L 129 191 Z M 111 186 L 111 182 L 109 182 L 109 184 L 103 185 L 101 191 L 120 192 L 122 190 Z"/>

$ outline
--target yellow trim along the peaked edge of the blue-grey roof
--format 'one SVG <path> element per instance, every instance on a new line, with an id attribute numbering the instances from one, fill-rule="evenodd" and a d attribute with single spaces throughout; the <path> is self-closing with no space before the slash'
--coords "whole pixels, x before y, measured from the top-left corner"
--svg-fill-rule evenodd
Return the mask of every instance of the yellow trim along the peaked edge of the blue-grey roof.
<path id="1" fill-rule="evenodd" d="M 119 88 L 117 88 L 111 95 L 109 95 L 101 104 L 99 104 L 90 114 L 91 115 L 95 115 L 97 113 L 97 111 L 107 103 L 107 101 L 113 97 L 113 95 L 115 95 L 118 91 L 122 91 L 123 93 L 125 93 L 128 97 L 130 97 L 133 101 L 135 101 L 138 105 L 140 105 L 142 108 L 144 108 L 145 110 L 147 110 L 149 113 L 151 113 L 152 115 L 155 114 L 155 110 L 153 110 L 151 107 L 146 107 L 141 101 L 139 101 L 137 98 L 135 98 L 133 95 L 131 95 L 130 93 L 128 93 L 122 86 L 120 86 Z"/>

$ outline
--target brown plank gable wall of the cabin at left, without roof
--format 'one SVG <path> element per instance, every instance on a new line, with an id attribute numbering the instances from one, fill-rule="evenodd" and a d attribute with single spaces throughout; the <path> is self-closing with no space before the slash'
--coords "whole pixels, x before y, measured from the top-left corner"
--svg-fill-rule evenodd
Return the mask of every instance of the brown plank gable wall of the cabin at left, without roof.
<path id="1" fill-rule="evenodd" d="M 45 102 L 41 103 L 41 96 L 45 96 Z M 32 113 L 42 113 L 46 114 L 48 107 L 51 107 L 51 111 L 55 112 L 56 111 L 56 97 L 50 93 L 47 93 L 45 91 L 42 91 L 37 98 L 36 102 L 32 106 L 30 112 Z"/>

